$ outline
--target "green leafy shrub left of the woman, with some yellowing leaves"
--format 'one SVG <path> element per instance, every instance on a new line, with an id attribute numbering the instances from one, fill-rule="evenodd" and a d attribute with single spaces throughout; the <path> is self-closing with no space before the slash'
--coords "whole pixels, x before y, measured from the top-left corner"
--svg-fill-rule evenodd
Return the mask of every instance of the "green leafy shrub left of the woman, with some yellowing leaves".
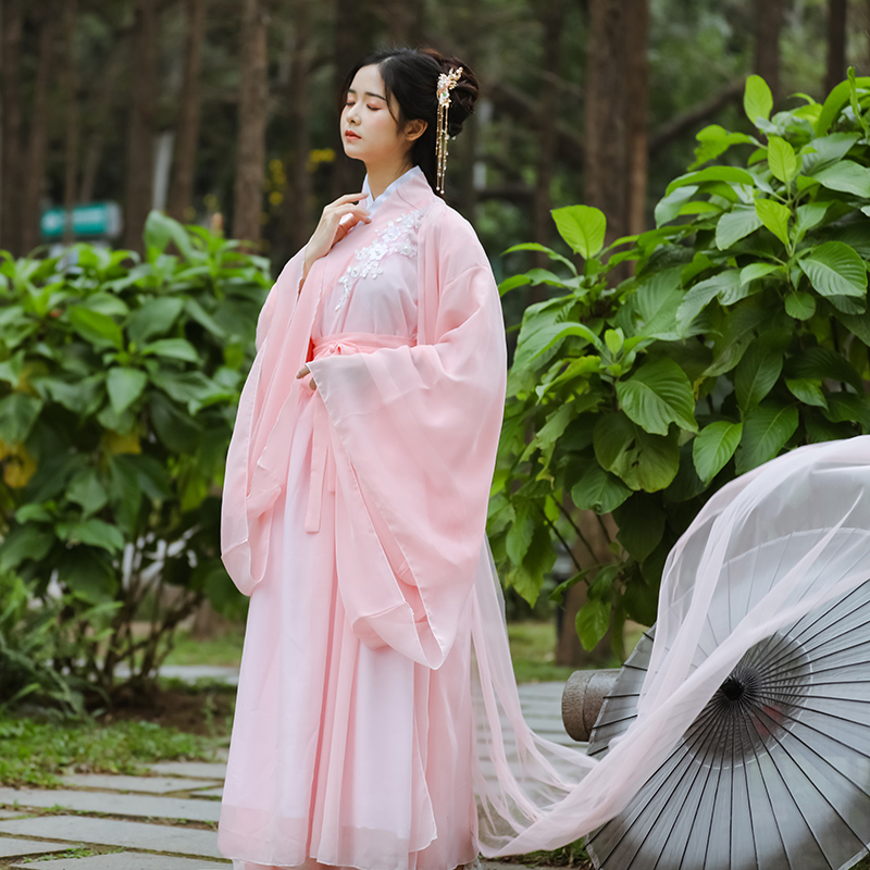
<path id="1" fill-rule="evenodd" d="M 0 574 L 60 593 L 53 667 L 104 697 L 121 662 L 148 680 L 203 598 L 238 606 L 220 481 L 271 284 L 263 258 L 159 212 L 145 241 L 144 260 L 0 253 Z"/>

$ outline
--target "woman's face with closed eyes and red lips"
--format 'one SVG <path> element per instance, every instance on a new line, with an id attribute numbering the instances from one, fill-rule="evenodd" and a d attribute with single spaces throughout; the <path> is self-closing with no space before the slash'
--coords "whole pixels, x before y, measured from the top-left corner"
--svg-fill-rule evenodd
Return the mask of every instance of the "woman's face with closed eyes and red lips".
<path id="1" fill-rule="evenodd" d="M 360 69 L 350 83 L 341 110 L 345 153 L 362 160 L 370 169 L 403 161 L 417 137 L 409 134 L 413 122 L 400 129 L 396 121 L 398 114 L 395 100 L 393 105 L 387 104 L 384 79 L 378 67 L 373 64 Z"/>

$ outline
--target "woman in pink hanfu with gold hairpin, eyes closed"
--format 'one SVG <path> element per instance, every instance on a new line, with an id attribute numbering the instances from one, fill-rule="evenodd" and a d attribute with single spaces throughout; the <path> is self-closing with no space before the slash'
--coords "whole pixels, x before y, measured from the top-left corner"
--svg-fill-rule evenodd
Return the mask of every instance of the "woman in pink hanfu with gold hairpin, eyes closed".
<path id="1" fill-rule="evenodd" d="M 326 207 L 258 324 L 222 527 L 251 595 L 219 831 L 236 870 L 476 860 L 482 596 L 513 686 L 484 529 L 506 349 L 484 251 L 435 190 L 476 96 L 431 51 L 350 74 L 341 136 L 366 183 Z"/>

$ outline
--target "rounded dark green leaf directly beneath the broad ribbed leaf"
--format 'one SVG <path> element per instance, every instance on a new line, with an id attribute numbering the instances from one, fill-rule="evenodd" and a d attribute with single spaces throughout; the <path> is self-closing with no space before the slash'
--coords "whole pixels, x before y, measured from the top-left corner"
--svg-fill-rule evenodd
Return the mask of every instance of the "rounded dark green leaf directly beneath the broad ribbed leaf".
<path id="1" fill-rule="evenodd" d="M 668 436 L 652 435 L 622 413 L 608 413 L 598 418 L 593 443 L 601 467 L 631 489 L 663 489 L 680 468 L 678 428 Z"/>

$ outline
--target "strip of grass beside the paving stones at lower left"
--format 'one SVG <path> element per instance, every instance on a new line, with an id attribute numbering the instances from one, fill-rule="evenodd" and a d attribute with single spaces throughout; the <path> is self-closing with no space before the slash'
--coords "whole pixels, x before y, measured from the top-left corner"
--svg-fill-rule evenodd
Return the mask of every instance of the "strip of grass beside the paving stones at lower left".
<path id="1" fill-rule="evenodd" d="M 0 783 L 57 787 L 64 773 L 144 773 L 176 759 L 213 760 L 214 741 L 153 722 L 47 723 L 0 718 Z"/>

